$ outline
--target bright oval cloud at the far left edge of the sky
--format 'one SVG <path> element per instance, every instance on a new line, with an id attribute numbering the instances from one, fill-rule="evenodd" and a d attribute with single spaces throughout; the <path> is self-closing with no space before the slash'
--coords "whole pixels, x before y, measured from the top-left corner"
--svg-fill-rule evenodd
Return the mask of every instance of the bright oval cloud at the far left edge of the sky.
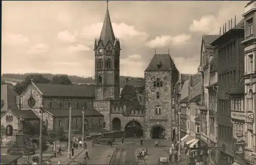
<path id="1" fill-rule="evenodd" d="M 5 33 L 2 36 L 2 43 L 6 45 L 24 46 L 30 43 L 27 36 L 21 34 Z"/>

